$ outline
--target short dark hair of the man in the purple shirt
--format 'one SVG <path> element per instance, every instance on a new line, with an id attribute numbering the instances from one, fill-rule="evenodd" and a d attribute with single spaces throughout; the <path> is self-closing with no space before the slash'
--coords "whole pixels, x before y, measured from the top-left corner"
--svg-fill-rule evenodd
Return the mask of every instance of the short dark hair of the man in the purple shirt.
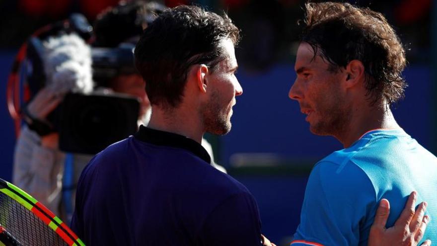
<path id="1" fill-rule="evenodd" d="M 225 59 L 220 42 L 228 38 L 236 45 L 239 30 L 226 14 L 186 5 L 161 13 L 135 48 L 135 65 L 146 81 L 150 103 L 176 107 L 182 100 L 189 68 L 205 64 L 214 72 Z"/>

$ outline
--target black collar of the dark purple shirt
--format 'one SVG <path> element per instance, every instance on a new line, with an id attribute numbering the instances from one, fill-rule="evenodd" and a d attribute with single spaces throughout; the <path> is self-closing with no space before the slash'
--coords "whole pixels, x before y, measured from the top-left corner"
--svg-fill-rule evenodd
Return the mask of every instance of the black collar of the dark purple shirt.
<path id="1" fill-rule="evenodd" d="M 134 137 L 137 140 L 153 145 L 168 146 L 187 150 L 205 162 L 211 164 L 211 157 L 205 148 L 203 148 L 198 142 L 185 136 L 151 129 L 142 125 Z"/>

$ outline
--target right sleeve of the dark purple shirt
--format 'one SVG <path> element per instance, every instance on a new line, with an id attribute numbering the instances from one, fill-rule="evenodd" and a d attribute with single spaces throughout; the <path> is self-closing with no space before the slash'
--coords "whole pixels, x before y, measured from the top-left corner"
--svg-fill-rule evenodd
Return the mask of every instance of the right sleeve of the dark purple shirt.
<path id="1" fill-rule="evenodd" d="M 251 194 L 239 193 L 218 205 L 203 224 L 205 246 L 261 245 L 258 206 Z"/>

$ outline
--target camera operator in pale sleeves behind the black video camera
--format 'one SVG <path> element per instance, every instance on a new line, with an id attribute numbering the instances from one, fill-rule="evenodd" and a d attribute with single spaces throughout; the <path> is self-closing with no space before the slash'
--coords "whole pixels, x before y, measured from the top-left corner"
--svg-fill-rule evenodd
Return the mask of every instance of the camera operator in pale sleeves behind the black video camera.
<path id="1" fill-rule="evenodd" d="M 155 6 L 158 5 L 135 1 L 122 2 L 107 9 L 94 24 L 95 46 L 112 51 L 123 41 L 140 35 L 147 21 L 152 20 L 148 15 Z M 120 21 L 122 19 L 124 21 Z M 118 25 L 112 26 L 111 32 L 102 31 L 107 23 L 114 21 Z M 134 70 L 132 52 L 129 66 L 115 68 L 116 73 L 110 77 L 94 78 L 98 83 L 93 84 L 92 51 L 77 35 L 52 37 L 43 42 L 43 46 L 43 67 L 47 79 L 45 86 L 23 110 L 26 124 L 21 129 L 15 147 L 13 182 L 68 222 L 74 210 L 77 180 L 92 155 L 61 151 L 59 132 L 49 127 L 50 114 L 60 105 L 67 92 L 88 93 L 95 86 L 105 86 L 114 92 L 138 97 L 141 102 L 140 120 L 144 124 L 150 106 L 145 84 Z M 67 172 L 67 169 L 72 170 Z"/>

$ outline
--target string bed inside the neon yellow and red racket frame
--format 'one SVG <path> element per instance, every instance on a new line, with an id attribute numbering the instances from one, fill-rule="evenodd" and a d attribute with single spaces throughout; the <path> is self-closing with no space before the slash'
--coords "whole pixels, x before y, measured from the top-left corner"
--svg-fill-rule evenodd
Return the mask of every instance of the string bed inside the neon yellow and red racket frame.
<path id="1" fill-rule="evenodd" d="M 0 226 L 22 246 L 66 246 L 41 219 L 23 205 L 0 192 Z"/>

